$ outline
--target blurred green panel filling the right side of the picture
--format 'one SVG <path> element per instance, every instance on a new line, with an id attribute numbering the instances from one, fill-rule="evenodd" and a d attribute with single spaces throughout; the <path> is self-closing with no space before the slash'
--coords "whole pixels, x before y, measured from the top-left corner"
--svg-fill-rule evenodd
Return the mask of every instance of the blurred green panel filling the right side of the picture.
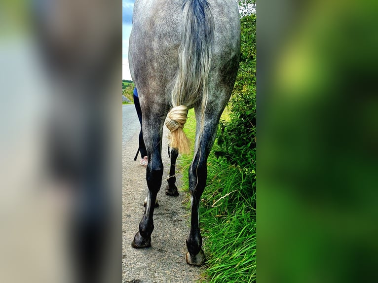
<path id="1" fill-rule="evenodd" d="M 257 10 L 258 282 L 378 282 L 378 2 Z"/>

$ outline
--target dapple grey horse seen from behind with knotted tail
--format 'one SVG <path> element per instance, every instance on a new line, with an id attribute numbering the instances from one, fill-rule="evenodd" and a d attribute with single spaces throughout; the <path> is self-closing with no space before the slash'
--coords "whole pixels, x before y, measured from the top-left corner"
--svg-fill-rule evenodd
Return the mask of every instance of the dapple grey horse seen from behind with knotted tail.
<path id="1" fill-rule="evenodd" d="M 196 133 L 189 168 L 190 231 L 186 260 L 202 265 L 205 254 L 199 230 L 199 202 L 206 185 L 207 158 L 219 119 L 235 82 L 240 56 L 240 16 L 235 0 L 136 0 L 129 41 L 131 76 L 143 113 L 148 152 L 146 209 L 134 248 L 151 246 L 153 210 L 161 186 L 164 121 L 170 133 L 171 176 L 178 152 L 188 150 L 183 132 L 194 107 Z M 168 113 L 168 116 L 167 116 Z M 174 179 L 166 193 L 177 195 Z"/>

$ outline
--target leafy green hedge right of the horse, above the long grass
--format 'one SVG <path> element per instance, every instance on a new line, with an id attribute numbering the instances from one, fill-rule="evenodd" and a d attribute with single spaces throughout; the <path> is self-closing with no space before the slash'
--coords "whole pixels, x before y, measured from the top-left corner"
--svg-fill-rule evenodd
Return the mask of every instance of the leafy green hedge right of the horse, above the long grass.
<path id="1" fill-rule="evenodd" d="M 217 156 L 249 174 L 256 168 L 256 15 L 241 19 L 240 67 L 230 99 L 229 120 L 220 122 Z M 252 184 L 251 184 L 252 185 Z"/>

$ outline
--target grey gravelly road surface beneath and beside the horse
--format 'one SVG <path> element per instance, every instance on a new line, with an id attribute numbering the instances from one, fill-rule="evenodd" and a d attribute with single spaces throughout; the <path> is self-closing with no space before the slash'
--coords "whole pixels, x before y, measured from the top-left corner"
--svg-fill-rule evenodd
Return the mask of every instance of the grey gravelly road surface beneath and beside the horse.
<path id="1" fill-rule="evenodd" d="M 154 211 L 154 230 L 151 248 L 131 248 L 131 241 L 138 231 L 144 212 L 143 202 L 147 194 L 146 169 L 139 165 L 140 154 L 134 161 L 138 149 L 139 121 L 134 105 L 123 105 L 122 148 L 122 282 L 123 283 L 186 283 L 200 278 L 200 269 L 185 261 L 185 240 L 189 232 L 189 212 L 183 207 L 187 192 L 177 187 L 180 196 L 165 195 L 163 180 L 157 195 L 159 207 Z M 169 172 L 166 131 L 164 127 L 162 160 L 164 177 Z M 164 178 L 163 177 L 163 178 Z"/>

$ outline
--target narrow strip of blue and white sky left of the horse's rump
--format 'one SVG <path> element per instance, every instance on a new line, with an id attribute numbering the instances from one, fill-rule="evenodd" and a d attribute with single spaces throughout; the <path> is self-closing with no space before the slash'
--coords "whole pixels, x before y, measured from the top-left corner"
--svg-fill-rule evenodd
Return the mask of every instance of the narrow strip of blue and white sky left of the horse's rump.
<path id="1" fill-rule="evenodd" d="M 131 80 L 129 70 L 129 36 L 135 0 L 122 0 L 122 79 Z"/>

